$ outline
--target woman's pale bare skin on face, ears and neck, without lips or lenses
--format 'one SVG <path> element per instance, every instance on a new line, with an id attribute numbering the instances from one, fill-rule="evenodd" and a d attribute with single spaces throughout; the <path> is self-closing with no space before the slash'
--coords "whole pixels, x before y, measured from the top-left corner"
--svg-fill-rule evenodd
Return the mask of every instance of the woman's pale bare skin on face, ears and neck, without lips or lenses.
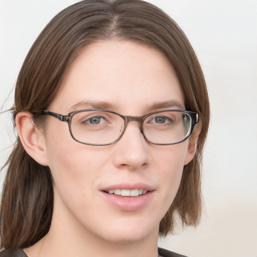
<path id="1" fill-rule="evenodd" d="M 48 110 L 68 114 L 95 107 L 76 105 L 85 100 L 105 101 L 111 105 L 101 108 L 134 116 L 179 109 L 149 109 L 154 103 L 173 100 L 184 107 L 178 79 L 166 57 L 127 41 L 101 41 L 84 49 Z M 54 179 L 50 231 L 25 249 L 29 256 L 158 255 L 159 223 L 177 193 L 184 165 L 194 156 L 195 133 L 180 144 L 151 145 L 139 123 L 132 121 L 116 144 L 96 147 L 75 142 L 67 123 L 54 117 L 48 116 L 41 129 L 33 126 L 29 112 L 20 112 L 16 122 L 26 151 L 49 166 Z M 101 195 L 104 187 L 139 182 L 154 189 L 139 210 L 120 210 Z"/>

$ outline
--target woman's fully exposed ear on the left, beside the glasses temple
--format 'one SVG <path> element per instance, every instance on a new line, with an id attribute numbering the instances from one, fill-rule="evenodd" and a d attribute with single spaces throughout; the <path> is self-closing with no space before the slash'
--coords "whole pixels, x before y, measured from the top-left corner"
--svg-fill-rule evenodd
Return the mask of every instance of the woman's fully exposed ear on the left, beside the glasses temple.
<path id="1" fill-rule="evenodd" d="M 44 134 L 32 119 L 32 113 L 21 111 L 16 115 L 16 127 L 25 151 L 39 164 L 48 166 Z"/>

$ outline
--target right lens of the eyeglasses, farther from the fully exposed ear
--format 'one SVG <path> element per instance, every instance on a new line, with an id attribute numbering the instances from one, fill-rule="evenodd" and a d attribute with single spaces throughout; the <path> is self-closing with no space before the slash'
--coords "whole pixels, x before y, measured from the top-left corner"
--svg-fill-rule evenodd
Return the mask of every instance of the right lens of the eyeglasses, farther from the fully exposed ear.
<path id="1" fill-rule="evenodd" d="M 191 129 L 191 117 L 181 111 L 161 111 L 144 120 L 146 138 L 155 144 L 174 144 L 183 141 Z"/>

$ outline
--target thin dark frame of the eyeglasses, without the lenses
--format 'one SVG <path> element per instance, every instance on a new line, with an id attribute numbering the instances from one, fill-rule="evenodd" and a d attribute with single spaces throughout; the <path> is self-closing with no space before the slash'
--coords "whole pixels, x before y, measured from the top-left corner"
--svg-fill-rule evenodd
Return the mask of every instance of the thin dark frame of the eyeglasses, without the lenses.
<path id="1" fill-rule="evenodd" d="M 72 117 L 76 114 L 76 113 L 79 113 L 79 112 L 84 112 L 84 111 L 104 111 L 104 112 L 110 112 L 110 113 L 113 113 L 113 114 L 116 114 L 116 115 L 119 115 L 123 120 L 124 120 L 124 129 L 122 131 L 122 133 L 120 134 L 120 136 L 113 142 L 111 143 L 105 143 L 105 144 L 92 144 L 92 143 L 85 143 L 83 141 L 80 141 L 80 140 L 77 140 L 74 138 L 73 134 L 72 134 L 72 131 L 71 131 L 71 119 Z M 189 115 L 190 117 L 190 131 L 188 133 L 188 135 L 183 139 L 183 140 L 180 140 L 180 141 L 177 141 L 177 142 L 174 142 L 174 143 L 154 143 L 152 141 L 150 141 L 149 139 L 146 138 L 145 134 L 144 134 L 144 130 L 143 130 L 143 123 L 144 123 L 144 120 L 150 116 L 150 115 L 153 115 L 153 114 L 156 114 L 156 113 L 162 113 L 162 112 L 165 112 L 165 111 L 174 111 L 174 112 L 181 112 L 181 113 L 185 113 L 187 115 Z M 44 115 L 50 115 L 52 117 L 55 117 L 57 119 L 59 119 L 60 121 L 65 121 L 68 123 L 69 125 L 69 132 L 70 132 L 70 135 L 71 137 L 78 143 L 81 143 L 81 144 L 84 144 L 84 145 L 90 145 L 90 146 L 108 146 L 108 145 L 113 145 L 115 143 L 117 143 L 121 137 L 123 136 L 125 130 L 126 130 L 126 126 L 127 124 L 130 122 L 130 121 L 138 121 L 140 122 L 140 132 L 143 134 L 145 140 L 150 143 L 150 144 L 153 144 L 153 145 L 161 145 L 161 146 L 166 146 L 166 145 L 175 145 L 175 144 L 179 144 L 185 140 L 187 140 L 193 130 L 194 130 L 194 126 L 199 122 L 199 115 L 197 112 L 193 112 L 193 111 L 186 111 L 186 110 L 160 110 L 160 111 L 155 111 L 155 112 L 151 112 L 151 113 L 148 113 L 144 116 L 125 116 L 125 115 L 121 115 L 117 112 L 114 112 L 114 111 L 110 111 L 110 110 L 102 110 L 102 109 L 82 109 L 82 110 L 75 110 L 75 111 L 72 111 L 70 113 L 68 113 L 67 115 L 63 115 L 63 114 L 59 114 L 59 113 L 56 113 L 56 112 L 52 112 L 52 111 L 48 111 L 48 110 L 42 110 L 42 113 Z"/>

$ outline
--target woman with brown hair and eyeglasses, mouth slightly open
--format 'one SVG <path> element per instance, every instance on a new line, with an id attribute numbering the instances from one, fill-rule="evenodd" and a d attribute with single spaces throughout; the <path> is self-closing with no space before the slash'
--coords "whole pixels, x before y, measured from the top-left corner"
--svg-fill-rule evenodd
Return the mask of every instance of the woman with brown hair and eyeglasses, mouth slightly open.
<path id="1" fill-rule="evenodd" d="M 143 1 L 82 1 L 33 44 L 13 107 L 0 256 L 181 256 L 197 225 L 209 123 L 204 77 L 176 23 Z"/>

